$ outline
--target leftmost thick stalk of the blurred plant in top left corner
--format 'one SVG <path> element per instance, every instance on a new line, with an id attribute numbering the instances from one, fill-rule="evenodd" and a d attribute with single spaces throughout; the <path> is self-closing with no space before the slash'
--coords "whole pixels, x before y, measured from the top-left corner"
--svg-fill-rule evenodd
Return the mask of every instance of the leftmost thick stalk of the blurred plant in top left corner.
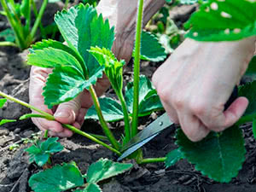
<path id="1" fill-rule="evenodd" d="M 6 13 L 7 19 L 9 20 L 10 26 L 12 27 L 12 29 L 15 32 L 15 41 L 18 44 L 18 46 L 20 47 L 20 49 L 24 49 L 25 44 L 24 44 L 24 39 L 20 36 L 21 32 L 21 28 L 19 26 L 17 26 L 16 21 L 14 20 L 14 18 L 12 17 L 12 15 L 10 14 L 9 8 L 5 2 L 5 0 L 0 0 L 3 10 Z"/>

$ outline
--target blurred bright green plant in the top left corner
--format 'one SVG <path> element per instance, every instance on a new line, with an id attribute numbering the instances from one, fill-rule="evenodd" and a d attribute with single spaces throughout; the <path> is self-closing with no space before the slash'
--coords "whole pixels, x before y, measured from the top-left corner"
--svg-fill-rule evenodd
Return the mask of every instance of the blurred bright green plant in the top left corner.
<path id="1" fill-rule="evenodd" d="M 35 5 L 34 0 L 21 0 L 20 3 L 15 3 L 14 0 L 1 0 L 0 3 L 3 7 L 2 15 L 6 15 L 12 28 L 12 31 L 7 29 L 1 32 L 1 36 L 7 40 L 7 42 L 1 42 L 2 45 L 9 42 L 9 45 L 18 46 L 20 49 L 27 49 L 35 40 L 39 26 L 42 35 L 44 35 L 41 19 L 44 15 L 48 0 L 43 1 L 39 10 Z M 36 16 L 33 25 L 32 11 Z M 25 22 L 23 22 L 23 19 Z M 11 44 L 12 42 L 15 42 L 15 44 Z"/>

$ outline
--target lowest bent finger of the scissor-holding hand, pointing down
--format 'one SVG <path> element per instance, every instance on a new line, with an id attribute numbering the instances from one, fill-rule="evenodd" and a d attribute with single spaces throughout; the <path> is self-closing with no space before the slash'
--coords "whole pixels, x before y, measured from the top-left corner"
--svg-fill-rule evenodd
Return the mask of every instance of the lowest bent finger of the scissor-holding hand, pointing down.
<path id="1" fill-rule="evenodd" d="M 207 137 L 210 130 L 203 125 L 197 117 L 188 112 L 177 112 L 179 123 L 184 134 L 192 142 L 201 141 L 204 137 Z"/>

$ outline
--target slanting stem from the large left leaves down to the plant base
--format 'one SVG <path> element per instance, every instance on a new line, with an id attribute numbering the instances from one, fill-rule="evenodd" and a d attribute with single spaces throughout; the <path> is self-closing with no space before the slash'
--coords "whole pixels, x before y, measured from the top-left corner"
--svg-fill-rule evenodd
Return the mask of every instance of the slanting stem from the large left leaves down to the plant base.
<path id="1" fill-rule="evenodd" d="M 97 115 L 99 117 L 100 123 L 102 125 L 102 130 L 104 131 L 105 135 L 108 137 L 109 142 L 113 145 L 113 148 L 119 149 L 119 143 L 117 140 L 113 137 L 112 132 L 109 130 L 107 122 L 105 121 L 103 114 L 102 114 L 102 109 L 100 106 L 100 102 L 98 100 L 98 97 L 96 95 L 96 91 L 93 88 L 93 85 L 90 85 L 90 95 L 92 97 L 92 100 L 94 102 L 94 106 L 96 108 Z"/>

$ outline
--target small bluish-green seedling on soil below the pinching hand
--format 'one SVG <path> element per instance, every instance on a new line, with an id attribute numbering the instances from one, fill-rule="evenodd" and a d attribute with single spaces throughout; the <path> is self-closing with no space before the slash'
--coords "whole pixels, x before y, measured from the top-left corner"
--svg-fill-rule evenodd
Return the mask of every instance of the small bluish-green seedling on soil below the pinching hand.
<path id="1" fill-rule="evenodd" d="M 30 162 L 35 161 L 38 166 L 44 166 L 49 162 L 50 154 L 60 152 L 63 150 L 61 143 L 58 143 L 58 137 L 50 137 L 45 142 L 37 141 L 30 148 L 26 148 Z"/>

